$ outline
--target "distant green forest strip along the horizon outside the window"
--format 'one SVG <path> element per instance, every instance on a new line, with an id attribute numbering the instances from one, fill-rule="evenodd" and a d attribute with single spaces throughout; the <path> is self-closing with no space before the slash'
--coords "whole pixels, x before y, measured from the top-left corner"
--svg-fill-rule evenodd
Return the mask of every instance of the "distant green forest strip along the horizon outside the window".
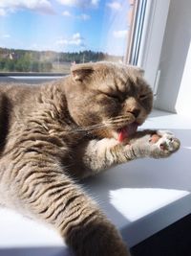
<path id="1" fill-rule="evenodd" d="M 57 53 L 0 48 L 0 72 L 58 72 L 67 74 L 72 63 L 100 60 L 118 61 L 122 60 L 122 57 L 93 51 Z"/>

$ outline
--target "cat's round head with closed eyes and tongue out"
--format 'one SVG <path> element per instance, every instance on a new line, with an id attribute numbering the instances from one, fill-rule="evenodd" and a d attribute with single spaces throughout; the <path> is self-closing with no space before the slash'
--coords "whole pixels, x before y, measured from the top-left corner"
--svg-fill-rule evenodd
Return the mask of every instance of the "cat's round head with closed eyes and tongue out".
<path id="1" fill-rule="evenodd" d="M 66 96 L 77 125 L 119 140 L 136 131 L 153 105 L 153 93 L 142 72 L 110 62 L 74 65 Z"/>

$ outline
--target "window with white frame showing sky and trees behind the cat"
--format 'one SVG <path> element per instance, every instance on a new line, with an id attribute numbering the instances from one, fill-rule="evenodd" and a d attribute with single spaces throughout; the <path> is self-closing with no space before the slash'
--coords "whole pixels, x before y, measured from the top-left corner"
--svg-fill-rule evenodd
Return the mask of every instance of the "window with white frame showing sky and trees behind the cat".
<path id="1" fill-rule="evenodd" d="M 0 0 L 0 75 L 66 75 L 72 63 L 123 61 L 157 93 L 170 0 Z"/>

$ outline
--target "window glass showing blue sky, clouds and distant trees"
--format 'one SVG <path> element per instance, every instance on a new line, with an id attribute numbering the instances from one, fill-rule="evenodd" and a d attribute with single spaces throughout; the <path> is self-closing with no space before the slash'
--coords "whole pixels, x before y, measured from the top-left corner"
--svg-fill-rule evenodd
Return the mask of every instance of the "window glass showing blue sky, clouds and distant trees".
<path id="1" fill-rule="evenodd" d="M 0 72 L 69 73 L 72 63 L 123 61 L 128 0 L 0 0 Z"/>

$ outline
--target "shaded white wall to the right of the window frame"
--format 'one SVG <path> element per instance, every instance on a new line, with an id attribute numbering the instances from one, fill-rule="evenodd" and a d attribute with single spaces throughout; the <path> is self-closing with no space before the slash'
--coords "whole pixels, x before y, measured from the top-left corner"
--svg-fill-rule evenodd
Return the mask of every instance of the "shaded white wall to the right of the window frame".
<path id="1" fill-rule="evenodd" d="M 187 91 L 186 80 L 182 79 L 190 38 L 191 1 L 171 0 L 159 62 L 160 78 L 155 102 L 155 106 L 162 110 L 176 112 L 181 109 L 182 112 L 187 107 L 191 110 L 191 100 L 184 101 L 185 95 L 191 95 L 191 91 Z"/>

